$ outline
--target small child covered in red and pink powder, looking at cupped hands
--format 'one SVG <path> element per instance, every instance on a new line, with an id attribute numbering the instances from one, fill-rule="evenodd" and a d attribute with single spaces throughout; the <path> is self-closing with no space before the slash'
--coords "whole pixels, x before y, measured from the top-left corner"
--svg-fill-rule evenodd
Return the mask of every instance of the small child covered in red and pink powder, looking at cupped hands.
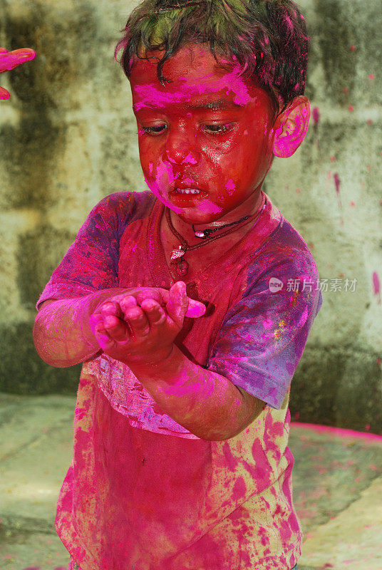
<path id="1" fill-rule="evenodd" d="M 308 128 L 308 43 L 290 0 L 128 20 L 150 191 L 93 208 L 33 330 L 51 366 L 83 362 L 56 515 L 71 569 L 296 569 L 289 390 L 322 296 L 262 184 Z"/>

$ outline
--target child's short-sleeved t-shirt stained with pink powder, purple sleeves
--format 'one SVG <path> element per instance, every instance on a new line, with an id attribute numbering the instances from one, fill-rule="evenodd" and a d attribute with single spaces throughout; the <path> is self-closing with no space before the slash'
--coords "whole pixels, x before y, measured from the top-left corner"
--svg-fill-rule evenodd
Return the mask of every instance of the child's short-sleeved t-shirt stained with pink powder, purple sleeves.
<path id="1" fill-rule="evenodd" d="M 109 287 L 170 289 L 163 209 L 149 191 L 101 200 L 36 306 Z M 191 283 L 179 279 L 207 311 L 185 318 L 177 346 L 267 406 L 239 435 L 202 440 L 128 366 L 103 353 L 84 362 L 56 531 L 82 570 L 289 570 L 302 532 L 288 403 L 322 304 L 314 258 L 267 196 L 234 247 Z"/>

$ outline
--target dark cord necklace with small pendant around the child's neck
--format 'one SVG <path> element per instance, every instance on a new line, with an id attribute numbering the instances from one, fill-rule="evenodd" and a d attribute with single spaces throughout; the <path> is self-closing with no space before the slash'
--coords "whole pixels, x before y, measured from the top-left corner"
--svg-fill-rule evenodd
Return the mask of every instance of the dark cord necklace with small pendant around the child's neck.
<path id="1" fill-rule="evenodd" d="M 237 222 L 231 222 L 230 224 L 224 224 L 224 226 L 217 227 L 216 229 L 206 228 L 206 229 L 203 229 L 202 231 L 195 231 L 194 224 L 192 224 L 192 229 L 195 232 L 195 237 L 200 237 L 200 239 L 205 240 L 204 242 L 202 242 L 202 244 L 195 244 L 195 245 L 189 245 L 186 242 L 185 238 L 182 237 L 182 235 L 180 235 L 179 232 L 177 232 L 177 230 L 175 229 L 175 227 L 172 225 L 172 222 L 171 222 L 170 208 L 165 207 L 165 214 L 166 214 L 168 226 L 170 227 L 172 234 L 174 234 L 175 237 L 177 239 L 179 239 L 179 241 L 180 241 L 180 246 L 177 249 L 172 249 L 172 252 L 170 254 L 170 259 L 172 260 L 172 263 L 175 263 L 175 268 L 176 268 L 177 274 L 180 276 L 187 275 L 189 265 L 184 258 L 185 252 L 192 251 L 193 249 L 198 249 L 199 247 L 203 247 L 204 245 L 210 244 L 211 242 L 215 242 L 216 239 L 219 239 L 220 237 L 226 236 L 227 234 L 232 232 L 234 229 L 238 229 L 238 227 L 226 229 L 225 232 L 223 232 L 222 234 L 220 234 L 218 236 L 209 237 L 210 234 L 212 234 L 212 232 L 217 232 L 218 229 L 222 229 L 223 227 L 232 226 L 234 224 L 240 224 L 240 223 L 241 223 L 241 225 L 239 227 L 242 227 L 242 226 L 244 226 L 244 224 L 247 221 L 256 220 L 257 218 L 259 218 L 260 214 L 262 214 L 266 204 L 267 204 L 267 196 L 265 197 L 265 201 L 264 201 L 264 204 L 262 205 L 262 207 L 260 207 L 257 210 L 257 212 L 252 214 L 252 216 L 244 216 L 243 218 L 239 219 Z"/>

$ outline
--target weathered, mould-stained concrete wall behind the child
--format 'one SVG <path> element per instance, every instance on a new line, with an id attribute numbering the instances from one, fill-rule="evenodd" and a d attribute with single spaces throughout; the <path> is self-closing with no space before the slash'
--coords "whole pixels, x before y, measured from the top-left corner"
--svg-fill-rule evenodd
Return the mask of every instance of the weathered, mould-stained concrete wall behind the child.
<path id="1" fill-rule="evenodd" d="M 304 237 L 324 305 L 294 375 L 292 419 L 382 433 L 380 0 L 300 0 L 315 109 L 264 190 Z M 80 366 L 33 347 L 34 305 L 91 208 L 145 190 L 128 82 L 113 48 L 133 4 L 0 0 L 0 46 L 38 57 L 0 83 L 0 390 L 76 393 Z M 356 279 L 345 291 L 345 279 Z M 336 279 L 340 281 L 337 282 Z M 339 289 L 339 290 L 336 290 Z"/>

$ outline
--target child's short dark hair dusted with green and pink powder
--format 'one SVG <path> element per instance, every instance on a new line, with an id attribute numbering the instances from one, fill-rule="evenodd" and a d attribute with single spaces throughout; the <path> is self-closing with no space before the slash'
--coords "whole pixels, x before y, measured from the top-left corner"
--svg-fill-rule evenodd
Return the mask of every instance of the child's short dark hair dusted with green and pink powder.
<path id="1" fill-rule="evenodd" d="M 127 78 L 135 58 L 148 59 L 146 50 L 163 50 L 165 61 L 187 43 L 210 43 L 218 56 L 238 61 L 240 75 L 252 77 L 270 96 L 273 121 L 288 103 L 303 95 L 308 65 L 309 36 L 304 17 L 292 0 L 143 0 L 120 32 L 114 58 Z"/>

